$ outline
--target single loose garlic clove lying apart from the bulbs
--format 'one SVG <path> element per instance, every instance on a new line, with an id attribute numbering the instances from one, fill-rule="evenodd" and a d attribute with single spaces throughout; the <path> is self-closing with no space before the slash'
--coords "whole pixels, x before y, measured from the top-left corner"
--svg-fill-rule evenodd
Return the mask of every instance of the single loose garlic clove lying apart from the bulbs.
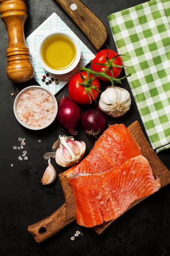
<path id="1" fill-rule="evenodd" d="M 51 160 L 49 158 L 48 160 L 48 167 L 46 168 L 45 172 L 44 172 L 44 175 L 42 177 L 42 184 L 43 185 L 50 185 L 52 184 L 53 182 L 55 182 L 55 179 L 57 177 L 57 173 L 55 171 L 55 168 L 54 166 L 51 164 Z"/>

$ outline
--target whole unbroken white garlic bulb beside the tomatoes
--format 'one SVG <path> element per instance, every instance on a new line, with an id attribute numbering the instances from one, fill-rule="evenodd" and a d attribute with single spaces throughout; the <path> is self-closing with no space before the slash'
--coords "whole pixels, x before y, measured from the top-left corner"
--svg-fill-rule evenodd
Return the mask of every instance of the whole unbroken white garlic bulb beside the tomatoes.
<path id="1" fill-rule="evenodd" d="M 108 86 L 99 99 L 99 108 L 111 117 L 121 117 L 130 109 L 130 105 L 128 90 L 117 86 Z"/>

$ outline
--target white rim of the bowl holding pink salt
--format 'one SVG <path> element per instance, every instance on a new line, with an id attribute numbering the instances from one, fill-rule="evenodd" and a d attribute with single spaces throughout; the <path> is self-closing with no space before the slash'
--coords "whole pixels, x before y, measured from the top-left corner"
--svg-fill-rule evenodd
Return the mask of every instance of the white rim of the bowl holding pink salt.
<path id="1" fill-rule="evenodd" d="M 34 126 L 30 126 L 28 124 L 25 124 L 22 120 L 20 120 L 20 118 L 18 117 L 18 114 L 17 114 L 17 104 L 18 104 L 18 101 L 20 99 L 20 96 L 24 93 L 24 92 L 27 92 L 28 90 L 33 90 L 33 89 L 40 89 L 40 90 L 44 90 L 46 92 L 49 93 L 49 95 L 51 95 L 53 101 L 54 101 L 54 104 L 55 104 L 55 110 L 54 110 L 54 113 L 53 113 L 53 117 L 49 120 L 48 124 L 44 124 L 43 126 L 40 126 L 40 127 L 34 127 Z M 42 130 L 46 127 L 48 127 L 49 125 L 51 125 L 53 123 L 53 121 L 55 120 L 56 116 L 57 116 L 57 112 L 58 112 L 58 104 L 57 104 L 57 99 L 55 98 L 54 94 L 52 92 L 50 92 L 47 88 L 44 88 L 40 85 L 31 85 L 31 86 L 28 86 L 24 89 L 22 89 L 18 94 L 17 96 L 15 97 L 15 100 L 14 100 L 14 103 L 13 103 L 13 112 L 14 112 L 14 115 L 16 117 L 16 119 L 18 120 L 18 122 L 24 126 L 25 128 L 28 128 L 30 130 Z"/>

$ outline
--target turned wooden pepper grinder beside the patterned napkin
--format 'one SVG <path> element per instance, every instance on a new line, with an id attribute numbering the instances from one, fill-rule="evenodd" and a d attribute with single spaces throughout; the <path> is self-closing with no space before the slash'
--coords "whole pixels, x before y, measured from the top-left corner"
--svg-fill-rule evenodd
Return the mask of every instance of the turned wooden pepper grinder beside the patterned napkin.
<path id="1" fill-rule="evenodd" d="M 15 83 L 29 81 L 34 74 L 24 24 L 28 17 L 25 0 L 0 0 L 1 19 L 8 31 L 7 76 Z"/>

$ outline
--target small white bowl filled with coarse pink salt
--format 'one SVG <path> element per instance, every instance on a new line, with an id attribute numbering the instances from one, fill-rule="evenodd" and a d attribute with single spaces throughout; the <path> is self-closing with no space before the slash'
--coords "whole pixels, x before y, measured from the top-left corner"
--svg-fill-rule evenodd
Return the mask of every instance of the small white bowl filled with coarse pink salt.
<path id="1" fill-rule="evenodd" d="M 13 112 L 18 122 L 31 130 L 42 130 L 52 124 L 57 111 L 55 96 L 39 85 L 24 88 L 13 104 Z"/>

